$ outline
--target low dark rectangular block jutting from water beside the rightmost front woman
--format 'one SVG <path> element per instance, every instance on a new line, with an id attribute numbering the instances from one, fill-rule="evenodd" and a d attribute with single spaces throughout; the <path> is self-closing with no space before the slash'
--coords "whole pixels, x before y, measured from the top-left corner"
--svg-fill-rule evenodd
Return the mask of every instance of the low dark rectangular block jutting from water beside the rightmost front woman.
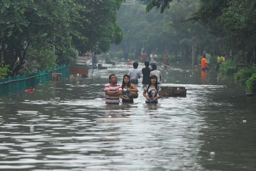
<path id="1" fill-rule="evenodd" d="M 166 87 L 161 86 L 161 90 L 163 92 L 163 96 L 167 97 L 186 97 L 187 90 L 185 87 Z"/>

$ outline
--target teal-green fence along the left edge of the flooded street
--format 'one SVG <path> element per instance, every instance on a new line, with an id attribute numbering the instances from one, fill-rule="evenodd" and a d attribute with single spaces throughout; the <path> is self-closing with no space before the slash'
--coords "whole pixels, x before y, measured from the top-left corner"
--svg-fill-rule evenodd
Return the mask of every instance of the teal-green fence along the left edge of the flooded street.
<path id="1" fill-rule="evenodd" d="M 50 68 L 46 71 L 37 72 L 29 75 L 9 77 L 7 79 L 0 79 L 0 95 L 16 90 L 33 88 L 38 83 L 45 83 L 51 80 L 52 73 L 61 73 L 62 80 L 70 75 L 69 65 L 56 66 L 54 69 Z"/>

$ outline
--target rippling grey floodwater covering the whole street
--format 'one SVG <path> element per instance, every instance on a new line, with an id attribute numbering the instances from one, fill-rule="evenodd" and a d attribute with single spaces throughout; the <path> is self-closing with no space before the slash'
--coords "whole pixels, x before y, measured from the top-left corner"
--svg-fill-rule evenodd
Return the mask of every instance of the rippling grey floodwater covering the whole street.
<path id="1" fill-rule="evenodd" d="M 0 170 L 256 171 L 256 98 L 246 97 L 244 87 L 214 71 L 160 68 L 163 84 L 186 87 L 186 98 L 145 104 L 139 84 L 134 104 L 106 106 L 109 74 L 121 83 L 132 66 L 105 66 L 89 78 L 2 95 Z"/>

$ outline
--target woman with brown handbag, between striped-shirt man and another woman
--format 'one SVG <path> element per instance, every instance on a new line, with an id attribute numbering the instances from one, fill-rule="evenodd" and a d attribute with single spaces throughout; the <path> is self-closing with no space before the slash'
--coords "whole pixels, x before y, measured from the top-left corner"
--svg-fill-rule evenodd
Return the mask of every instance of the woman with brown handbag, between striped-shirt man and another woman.
<path id="1" fill-rule="evenodd" d="M 120 95 L 122 103 L 133 103 L 133 99 L 128 97 L 128 93 L 129 91 L 138 92 L 138 90 L 133 83 L 130 83 L 130 77 L 127 74 L 123 77 L 122 90 L 122 95 Z"/>

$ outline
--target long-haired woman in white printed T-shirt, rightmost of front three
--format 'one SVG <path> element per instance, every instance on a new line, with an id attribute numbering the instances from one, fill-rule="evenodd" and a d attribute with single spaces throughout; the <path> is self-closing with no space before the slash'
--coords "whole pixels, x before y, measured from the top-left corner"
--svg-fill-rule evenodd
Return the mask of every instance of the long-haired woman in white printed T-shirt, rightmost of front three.
<path id="1" fill-rule="evenodd" d="M 157 77 L 152 75 L 149 80 L 149 84 L 144 88 L 143 96 L 146 98 L 146 103 L 158 103 L 157 99 L 162 98 L 163 93 L 157 85 Z"/>

